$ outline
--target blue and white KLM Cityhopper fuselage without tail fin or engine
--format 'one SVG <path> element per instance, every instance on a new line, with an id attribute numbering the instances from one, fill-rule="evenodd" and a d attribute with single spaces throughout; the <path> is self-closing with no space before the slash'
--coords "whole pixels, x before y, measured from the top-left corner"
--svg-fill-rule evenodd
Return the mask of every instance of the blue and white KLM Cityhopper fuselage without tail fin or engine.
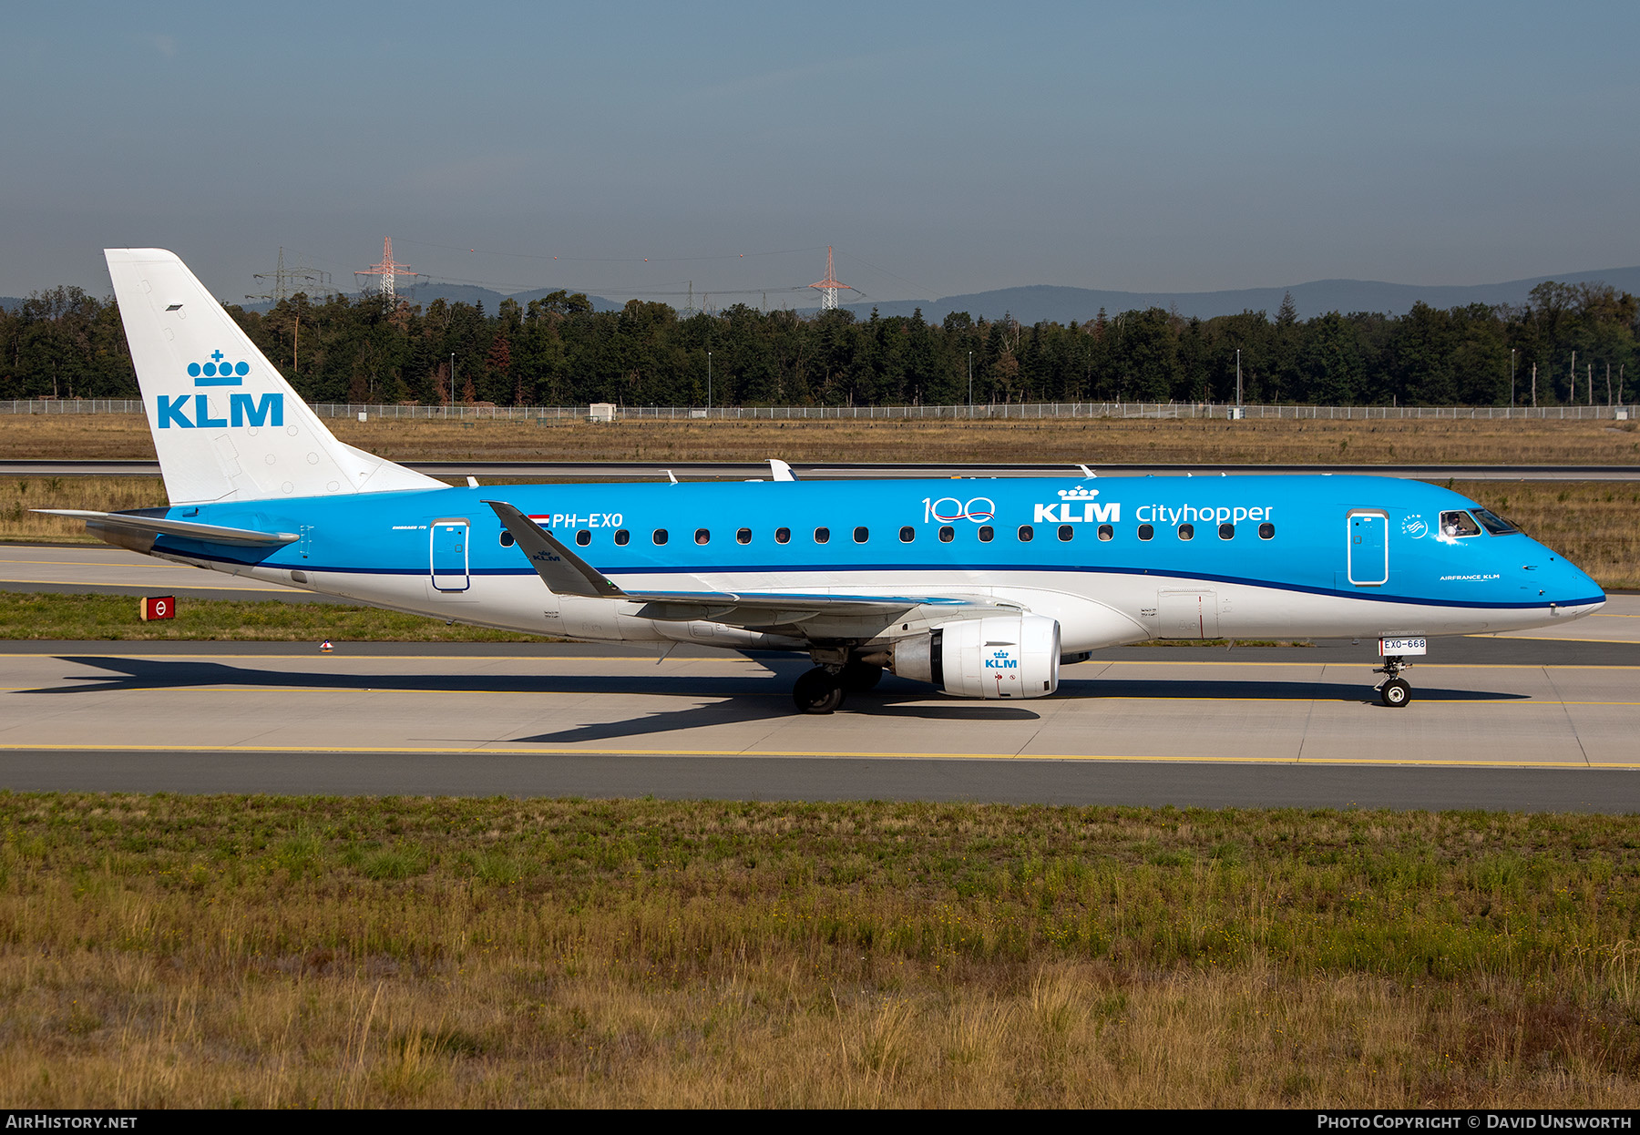
<path id="1" fill-rule="evenodd" d="M 161 536 L 154 551 L 461 622 L 585 635 L 543 602 L 485 500 L 515 505 L 626 589 L 987 594 L 1055 613 L 1066 650 L 1209 631 L 1509 630 L 1606 599 L 1524 533 L 1443 531 L 1443 517 L 1474 504 L 1389 477 L 495 485 L 171 508 L 300 540 L 241 549 Z M 1178 594 L 1212 595 L 1199 635 L 1168 625 Z M 631 620 L 610 627 L 589 636 L 641 636 Z"/>

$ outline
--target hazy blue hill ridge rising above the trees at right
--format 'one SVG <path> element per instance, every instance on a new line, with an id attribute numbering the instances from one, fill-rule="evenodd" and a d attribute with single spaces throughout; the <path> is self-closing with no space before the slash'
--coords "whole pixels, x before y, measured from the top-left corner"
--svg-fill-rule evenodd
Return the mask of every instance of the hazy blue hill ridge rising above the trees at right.
<path id="1" fill-rule="evenodd" d="M 879 303 L 848 303 L 846 307 L 866 318 L 876 308 L 879 315 L 910 315 L 922 308 L 923 318 L 938 323 L 950 312 L 968 312 L 976 320 L 1012 315 L 1020 323 L 1082 323 L 1094 318 L 1099 308 L 1107 315 L 1133 312 L 1148 307 L 1178 308 L 1186 318 L 1209 320 L 1215 315 L 1240 312 L 1268 312 L 1274 315 L 1281 297 L 1292 292 L 1299 318 L 1312 318 L 1327 312 L 1384 312 L 1405 315 L 1414 303 L 1424 300 L 1430 307 L 1463 307 L 1468 303 L 1525 303 L 1527 294 L 1543 280 L 1561 284 L 1602 282 L 1640 295 L 1640 267 L 1609 267 L 1599 272 L 1561 272 L 1555 276 L 1528 276 L 1502 284 L 1422 285 L 1384 284 L 1381 280 L 1310 280 L 1284 287 L 1243 287 L 1225 292 L 1102 292 L 1086 287 L 1004 287 L 994 292 L 946 295 L 938 300 L 887 300 Z"/>

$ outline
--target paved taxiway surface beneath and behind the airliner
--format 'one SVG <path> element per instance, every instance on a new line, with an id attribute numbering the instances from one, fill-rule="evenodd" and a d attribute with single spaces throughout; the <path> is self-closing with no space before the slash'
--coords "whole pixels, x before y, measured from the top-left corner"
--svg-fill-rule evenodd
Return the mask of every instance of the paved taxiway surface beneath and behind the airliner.
<path id="1" fill-rule="evenodd" d="M 308 600 L 115 548 L 0 549 L 0 587 Z M 1150 646 L 1061 694 L 887 677 L 792 713 L 805 659 L 587 645 L 0 645 L 0 787 L 984 799 L 1640 812 L 1640 597 L 1435 640 L 1414 704 L 1371 645 Z"/>

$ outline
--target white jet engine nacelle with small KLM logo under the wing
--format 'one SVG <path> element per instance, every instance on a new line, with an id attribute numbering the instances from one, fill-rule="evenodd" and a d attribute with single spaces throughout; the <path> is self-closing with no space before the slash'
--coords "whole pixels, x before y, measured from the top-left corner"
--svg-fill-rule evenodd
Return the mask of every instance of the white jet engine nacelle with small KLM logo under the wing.
<path id="1" fill-rule="evenodd" d="M 891 669 L 956 697 L 1046 697 L 1059 689 L 1059 623 L 989 615 L 894 643 Z"/>

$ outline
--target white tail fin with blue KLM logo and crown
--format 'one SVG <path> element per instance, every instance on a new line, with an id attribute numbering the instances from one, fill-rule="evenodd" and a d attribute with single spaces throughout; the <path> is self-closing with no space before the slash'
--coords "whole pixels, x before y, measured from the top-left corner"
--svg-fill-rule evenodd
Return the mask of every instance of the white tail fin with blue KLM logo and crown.
<path id="1" fill-rule="evenodd" d="M 103 256 L 171 504 L 444 487 L 338 441 L 174 253 Z"/>

